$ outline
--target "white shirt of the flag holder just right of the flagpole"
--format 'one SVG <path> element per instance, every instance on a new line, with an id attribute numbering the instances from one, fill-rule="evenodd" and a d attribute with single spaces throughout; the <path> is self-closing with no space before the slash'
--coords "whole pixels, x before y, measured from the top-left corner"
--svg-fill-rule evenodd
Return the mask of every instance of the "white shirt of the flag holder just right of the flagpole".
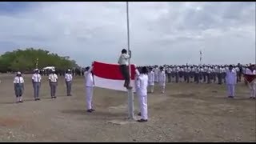
<path id="1" fill-rule="evenodd" d="M 138 76 L 138 94 L 145 96 L 147 95 L 147 86 L 148 86 L 148 76 L 146 74 L 140 74 Z"/>

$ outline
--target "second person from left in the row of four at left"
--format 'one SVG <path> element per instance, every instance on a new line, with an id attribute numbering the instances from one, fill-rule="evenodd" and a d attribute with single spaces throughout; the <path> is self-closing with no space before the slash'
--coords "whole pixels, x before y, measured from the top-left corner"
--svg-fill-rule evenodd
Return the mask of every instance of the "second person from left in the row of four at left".
<path id="1" fill-rule="evenodd" d="M 34 74 L 32 76 L 32 83 L 33 83 L 33 87 L 34 87 L 34 100 L 35 101 L 40 100 L 39 90 L 40 90 L 40 86 L 41 86 L 41 79 L 42 79 L 42 77 L 39 74 L 39 70 L 35 69 Z"/>

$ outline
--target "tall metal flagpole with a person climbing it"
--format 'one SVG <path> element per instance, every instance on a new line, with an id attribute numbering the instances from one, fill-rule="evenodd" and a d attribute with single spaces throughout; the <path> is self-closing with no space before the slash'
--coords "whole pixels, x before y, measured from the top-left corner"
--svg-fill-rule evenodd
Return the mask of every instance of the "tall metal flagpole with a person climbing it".
<path id="1" fill-rule="evenodd" d="M 126 2 L 126 16 L 127 16 L 127 47 L 130 51 L 130 29 L 129 29 L 129 3 Z M 128 60 L 129 74 L 130 74 L 130 58 Z M 131 82 L 131 81 L 130 81 Z M 128 118 L 134 119 L 134 92 L 132 89 L 128 89 Z"/>

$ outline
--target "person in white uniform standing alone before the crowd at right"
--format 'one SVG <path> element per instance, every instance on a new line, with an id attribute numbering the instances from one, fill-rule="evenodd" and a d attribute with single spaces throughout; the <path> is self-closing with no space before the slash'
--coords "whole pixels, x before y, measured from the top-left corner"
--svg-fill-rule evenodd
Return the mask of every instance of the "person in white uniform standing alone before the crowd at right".
<path id="1" fill-rule="evenodd" d="M 226 86 L 228 91 L 228 98 L 234 98 L 234 86 L 237 83 L 237 72 L 233 66 L 229 66 L 229 70 L 226 70 Z"/>

